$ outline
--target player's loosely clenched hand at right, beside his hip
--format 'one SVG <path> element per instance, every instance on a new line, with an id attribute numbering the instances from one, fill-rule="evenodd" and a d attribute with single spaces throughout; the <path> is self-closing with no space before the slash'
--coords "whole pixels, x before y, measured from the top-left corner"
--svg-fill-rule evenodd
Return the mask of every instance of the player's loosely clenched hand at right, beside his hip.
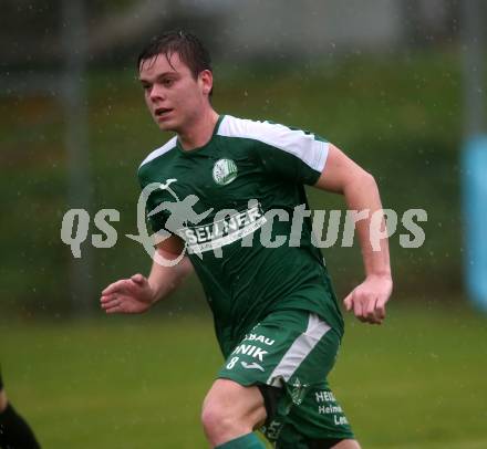
<path id="1" fill-rule="evenodd" d="M 353 309 L 363 323 L 382 324 L 385 319 L 385 303 L 392 293 L 391 275 L 371 274 L 343 300 L 345 309 Z"/>

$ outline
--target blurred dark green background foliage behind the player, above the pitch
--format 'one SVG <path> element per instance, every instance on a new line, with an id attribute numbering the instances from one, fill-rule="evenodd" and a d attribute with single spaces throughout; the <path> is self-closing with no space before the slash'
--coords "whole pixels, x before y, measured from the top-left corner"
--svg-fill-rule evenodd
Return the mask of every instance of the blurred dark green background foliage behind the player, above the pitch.
<path id="1" fill-rule="evenodd" d="M 73 311 L 70 248 L 61 242 L 69 176 L 61 87 L 63 15 L 76 2 L 4 0 L 0 17 L 2 167 L 2 315 L 61 316 Z M 298 4 L 299 3 L 299 4 Z M 396 297 L 464 301 L 459 149 L 463 133 L 459 2 L 303 1 L 84 2 L 87 106 L 85 157 L 90 213 L 115 208 L 118 240 L 92 251 L 92 295 L 151 261 L 126 239 L 135 233 L 141 160 L 169 136 L 145 109 L 135 58 L 147 39 L 185 27 L 207 42 L 218 112 L 272 119 L 318 133 L 377 179 L 384 207 L 422 208 L 426 241 L 403 249 L 391 239 Z M 63 12 L 64 11 L 64 12 Z M 343 208 L 340 197 L 309 190 L 313 207 Z M 93 223 L 82 254 L 90 246 Z M 340 296 L 363 276 L 360 250 L 324 251 Z M 203 304 L 196 279 L 173 311 Z M 160 307 L 166 311 L 166 307 Z"/>

